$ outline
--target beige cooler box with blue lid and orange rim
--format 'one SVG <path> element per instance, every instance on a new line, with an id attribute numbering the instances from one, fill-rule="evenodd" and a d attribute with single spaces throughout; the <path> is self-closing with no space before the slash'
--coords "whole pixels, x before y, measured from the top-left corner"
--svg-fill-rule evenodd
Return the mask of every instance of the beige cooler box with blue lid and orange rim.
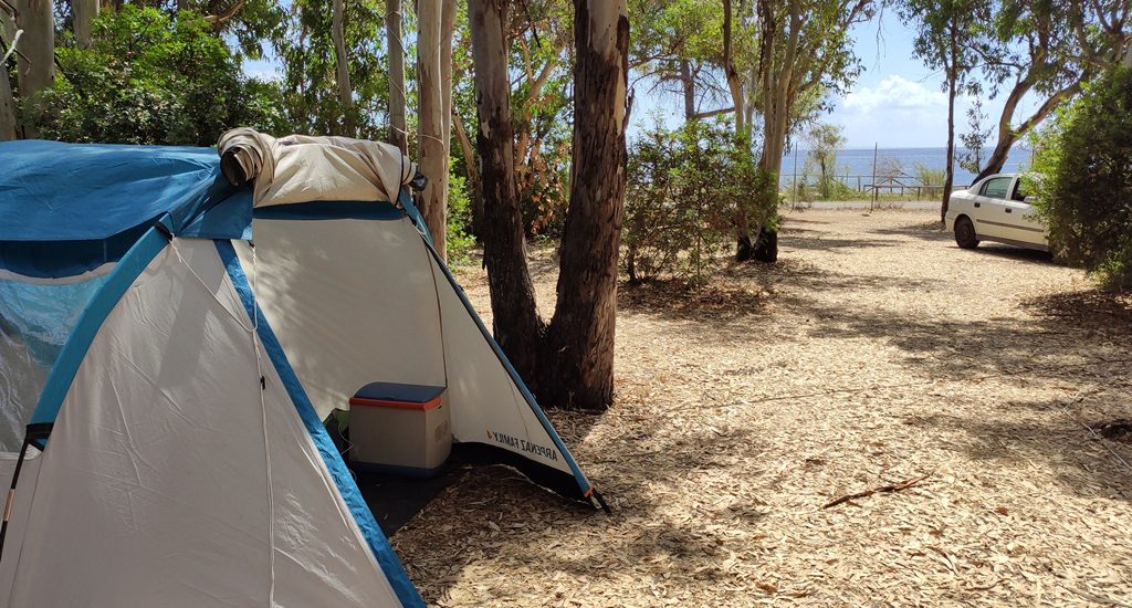
<path id="1" fill-rule="evenodd" d="M 350 397 L 350 461 L 384 472 L 431 476 L 452 452 L 443 386 L 376 382 Z"/>

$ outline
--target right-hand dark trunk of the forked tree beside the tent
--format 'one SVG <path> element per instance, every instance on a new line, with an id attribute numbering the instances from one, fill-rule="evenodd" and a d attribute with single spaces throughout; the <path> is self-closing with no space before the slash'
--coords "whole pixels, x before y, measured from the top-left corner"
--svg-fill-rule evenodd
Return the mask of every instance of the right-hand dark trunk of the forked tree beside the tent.
<path id="1" fill-rule="evenodd" d="M 614 399 L 617 257 L 625 203 L 629 20 L 625 0 L 574 1 L 574 151 L 542 397 L 603 410 Z M 552 378 L 552 379 L 551 379 Z"/>

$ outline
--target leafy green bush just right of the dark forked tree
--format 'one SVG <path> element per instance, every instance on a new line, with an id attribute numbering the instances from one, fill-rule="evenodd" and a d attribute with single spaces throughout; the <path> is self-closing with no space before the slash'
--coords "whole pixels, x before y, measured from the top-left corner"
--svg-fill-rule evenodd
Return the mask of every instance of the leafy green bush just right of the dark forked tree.
<path id="1" fill-rule="evenodd" d="M 655 126 L 629 149 L 623 231 L 629 280 L 675 275 L 706 282 L 736 238 L 740 213 L 777 229 L 775 185 L 727 127 Z M 770 190 L 773 196 L 761 195 Z"/>

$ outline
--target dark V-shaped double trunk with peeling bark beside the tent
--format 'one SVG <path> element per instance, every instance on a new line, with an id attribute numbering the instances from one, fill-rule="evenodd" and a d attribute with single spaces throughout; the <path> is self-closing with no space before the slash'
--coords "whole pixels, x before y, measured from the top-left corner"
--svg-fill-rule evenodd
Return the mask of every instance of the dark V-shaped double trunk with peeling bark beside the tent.
<path id="1" fill-rule="evenodd" d="M 604 409 L 614 394 L 617 257 L 625 197 L 625 0 L 575 0 L 574 152 L 555 316 L 543 325 L 523 243 L 511 112 L 507 0 L 469 0 L 483 258 L 495 334 L 548 405 Z"/>

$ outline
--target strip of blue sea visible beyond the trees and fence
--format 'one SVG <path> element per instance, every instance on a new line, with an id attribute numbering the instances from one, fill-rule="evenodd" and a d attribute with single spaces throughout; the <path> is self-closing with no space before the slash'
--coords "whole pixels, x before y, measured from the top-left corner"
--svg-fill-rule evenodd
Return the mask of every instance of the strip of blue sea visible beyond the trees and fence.
<path id="1" fill-rule="evenodd" d="M 984 149 L 983 157 L 986 159 L 990 155 L 993 148 Z M 957 159 L 959 154 L 966 153 L 963 148 L 957 148 Z M 1029 169 L 1030 165 L 1031 151 L 1029 148 L 1015 147 L 1011 151 L 1010 155 L 1006 157 L 1006 164 L 1002 168 L 1003 173 L 1014 173 L 1021 172 Z M 797 160 L 798 173 L 806 173 L 806 160 L 809 157 L 809 151 L 798 149 L 786 154 L 782 157 L 782 171 L 780 178 L 784 183 L 789 183 L 794 179 L 795 173 L 795 161 Z M 921 164 L 928 169 L 942 171 L 947 164 L 947 148 L 946 147 L 931 147 L 931 148 L 876 148 L 876 174 L 890 175 L 899 174 L 904 175 L 907 179 L 901 180 L 906 183 L 911 183 L 911 180 L 916 177 L 916 165 Z M 864 183 L 869 183 L 873 175 L 873 148 L 846 148 L 838 151 L 837 162 L 837 174 L 847 181 L 849 186 L 856 186 L 858 178 L 864 180 Z M 811 181 L 813 180 L 814 171 L 809 171 Z M 848 177 L 848 180 L 846 179 Z M 975 174 L 966 169 L 959 166 L 959 162 L 955 162 L 955 179 L 954 183 L 959 186 L 970 186 L 974 181 Z M 934 186 L 934 185 L 933 185 Z"/>

